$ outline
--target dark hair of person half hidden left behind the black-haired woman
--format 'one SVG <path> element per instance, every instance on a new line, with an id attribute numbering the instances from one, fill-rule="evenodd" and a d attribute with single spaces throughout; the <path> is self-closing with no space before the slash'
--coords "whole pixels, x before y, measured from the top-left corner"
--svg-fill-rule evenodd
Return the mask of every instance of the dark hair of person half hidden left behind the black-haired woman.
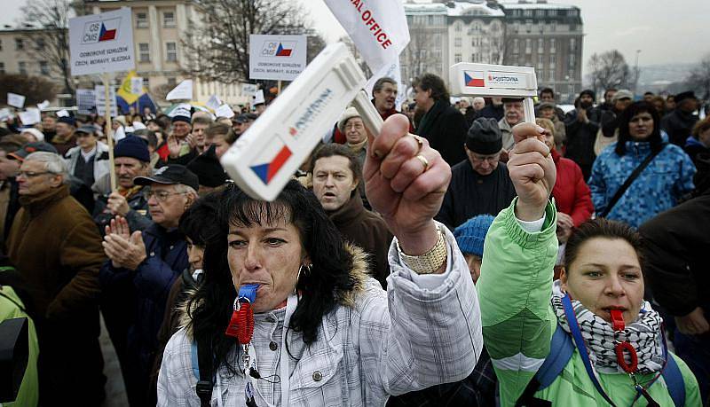
<path id="1" fill-rule="evenodd" d="M 193 241 L 193 245 L 205 247 L 208 239 L 218 233 L 215 225 L 220 192 L 209 192 L 196 200 L 180 216 L 177 228 Z"/>

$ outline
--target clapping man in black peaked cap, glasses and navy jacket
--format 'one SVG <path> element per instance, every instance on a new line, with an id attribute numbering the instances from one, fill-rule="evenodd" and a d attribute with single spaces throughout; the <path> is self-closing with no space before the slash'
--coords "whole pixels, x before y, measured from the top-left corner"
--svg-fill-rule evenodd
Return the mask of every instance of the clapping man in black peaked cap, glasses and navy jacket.
<path id="1" fill-rule="evenodd" d="M 137 176 L 133 182 L 150 188 L 145 193 L 154 225 L 143 232 L 131 231 L 126 220 L 116 216 L 106 228 L 103 245 L 109 260 L 101 267 L 99 282 L 105 295 L 122 297 L 122 306 L 135 310 L 125 353 L 118 356 L 130 405 L 146 405 L 170 287 L 189 266 L 185 236 L 177 225 L 197 199 L 199 182 L 192 171 L 177 164 L 159 168 L 153 176 Z"/>

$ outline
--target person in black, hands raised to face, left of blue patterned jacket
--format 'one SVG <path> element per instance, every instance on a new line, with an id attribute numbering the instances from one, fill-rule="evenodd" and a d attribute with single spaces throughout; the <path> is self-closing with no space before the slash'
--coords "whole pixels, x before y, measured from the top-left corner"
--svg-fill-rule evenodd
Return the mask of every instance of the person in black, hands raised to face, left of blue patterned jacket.
<path id="1" fill-rule="evenodd" d="M 594 108 L 595 93 L 582 90 L 580 98 L 574 102 L 575 109 L 564 117 L 567 131 L 567 148 L 564 156 L 582 168 L 584 179 L 592 173 L 592 164 L 596 159 L 594 142 L 599 131 L 600 113 Z"/>

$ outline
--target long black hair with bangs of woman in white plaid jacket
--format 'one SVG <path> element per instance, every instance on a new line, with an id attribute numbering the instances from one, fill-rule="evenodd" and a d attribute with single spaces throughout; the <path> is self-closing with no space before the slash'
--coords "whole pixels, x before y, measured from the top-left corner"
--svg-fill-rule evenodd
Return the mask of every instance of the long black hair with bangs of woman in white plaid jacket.
<path id="1" fill-rule="evenodd" d="M 252 226 L 284 220 L 299 231 L 301 244 L 312 262 L 310 272 L 302 272 L 296 290 L 303 294 L 290 319 L 288 329 L 302 333 L 304 342 L 313 343 L 323 317 L 335 309 L 338 301 L 353 290 L 352 255 L 343 246 L 343 238 L 328 219 L 313 192 L 296 180 L 288 182 L 273 202 L 254 200 L 235 186 L 219 192 L 218 232 L 205 247 L 205 277 L 197 292 L 187 302 L 194 340 L 211 344 L 215 371 L 221 364 L 236 373 L 227 356 L 234 339 L 225 335 L 236 297 L 232 273 L 227 262 L 229 226 Z"/>

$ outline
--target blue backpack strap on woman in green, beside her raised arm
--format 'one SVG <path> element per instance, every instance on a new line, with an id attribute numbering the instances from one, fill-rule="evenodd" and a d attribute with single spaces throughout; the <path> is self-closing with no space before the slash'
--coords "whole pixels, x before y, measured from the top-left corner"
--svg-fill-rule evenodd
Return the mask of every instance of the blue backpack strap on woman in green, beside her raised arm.
<path id="1" fill-rule="evenodd" d="M 545 358 L 540 369 L 535 373 L 533 380 L 530 380 L 527 384 L 523 394 L 517 399 L 516 405 L 542 405 L 540 400 L 535 399 L 533 395 L 539 390 L 549 387 L 557 379 L 557 376 L 564 371 L 564 366 L 572 359 L 573 353 L 574 344 L 570 335 L 558 324 L 555 333 L 552 334 L 552 340 L 550 340 L 548 357 Z"/>

